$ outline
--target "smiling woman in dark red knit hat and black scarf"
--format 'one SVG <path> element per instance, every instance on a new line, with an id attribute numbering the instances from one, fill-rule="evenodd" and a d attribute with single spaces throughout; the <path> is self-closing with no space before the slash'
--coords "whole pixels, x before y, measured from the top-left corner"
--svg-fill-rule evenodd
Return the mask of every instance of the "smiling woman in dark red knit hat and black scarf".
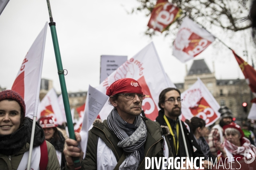
<path id="1" fill-rule="evenodd" d="M 0 92 L 0 170 L 25 170 L 29 156 L 32 119 L 25 117 L 23 98 L 15 91 Z M 44 130 L 36 123 L 31 168 L 59 170 L 54 147 L 45 141 Z"/>

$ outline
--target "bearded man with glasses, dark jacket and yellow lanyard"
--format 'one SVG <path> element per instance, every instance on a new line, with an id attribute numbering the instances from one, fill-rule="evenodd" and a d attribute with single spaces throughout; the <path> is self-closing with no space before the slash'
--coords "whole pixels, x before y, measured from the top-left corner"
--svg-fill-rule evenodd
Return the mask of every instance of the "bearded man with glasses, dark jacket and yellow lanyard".
<path id="1" fill-rule="evenodd" d="M 200 147 L 196 143 L 194 136 L 190 133 L 189 126 L 181 121 L 185 140 L 183 140 L 181 127 L 179 124 L 179 116 L 181 115 L 180 91 L 177 88 L 166 88 L 159 95 L 158 106 L 160 111 L 156 121 L 160 125 L 168 126 L 171 132 L 167 136 L 172 147 L 172 153 L 175 157 L 186 157 L 184 142 L 186 142 L 189 158 L 204 157 Z M 199 161 L 197 162 L 199 165 Z"/>

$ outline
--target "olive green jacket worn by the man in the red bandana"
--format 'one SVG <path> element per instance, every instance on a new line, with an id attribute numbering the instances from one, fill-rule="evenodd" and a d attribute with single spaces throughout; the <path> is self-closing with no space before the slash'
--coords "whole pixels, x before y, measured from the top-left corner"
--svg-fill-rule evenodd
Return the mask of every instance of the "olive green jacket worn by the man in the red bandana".
<path id="1" fill-rule="evenodd" d="M 163 155 L 163 135 L 167 135 L 167 130 L 160 127 L 158 122 L 151 121 L 143 117 L 145 125 L 147 127 L 147 139 L 145 142 L 145 157 L 157 157 L 159 160 Z M 169 130 L 169 129 L 168 129 Z M 163 131 L 165 133 L 163 133 Z M 116 135 L 109 129 L 107 120 L 103 122 L 95 121 L 93 123 L 93 128 L 89 131 L 87 150 L 85 159 L 81 161 L 83 170 L 96 170 L 97 169 L 97 144 L 98 137 L 100 137 L 105 144 L 113 151 L 116 161 L 118 162 L 123 154 L 121 147 L 117 146 L 119 139 Z M 164 136 L 166 138 L 166 136 Z M 169 149 L 169 157 L 173 157 L 172 150 L 168 139 L 166 138 L 166 143 Z M 156 167 L 156 166 L 154 166 Z M 67 166 L 66 166 L 66 169 Z M 82 170 L 81 169 L 81 170 Z M 140 164 L 138 170 L 145 170 L 145 158 Z"/>

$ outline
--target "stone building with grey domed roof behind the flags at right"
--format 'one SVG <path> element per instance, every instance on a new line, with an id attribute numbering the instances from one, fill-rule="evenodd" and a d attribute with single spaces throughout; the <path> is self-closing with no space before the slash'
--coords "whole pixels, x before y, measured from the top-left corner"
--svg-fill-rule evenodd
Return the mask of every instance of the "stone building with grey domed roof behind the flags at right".
<path id="1" fill-rule="evenodd" d="M 201 79 L 220 106 L 226 105 L 231 109 L 237 121 L 247 118 L 252 96 L 245 79 L 216 79 L 214 71 L 210 71 L 204 59 L 198 59 L 194 60 L 187 71 L 184 83 L 175 85 L 182 93 L 197 81 L 197 77 Z M 244 113 L 243 102 L 247 103 L 247 113 Z"/>

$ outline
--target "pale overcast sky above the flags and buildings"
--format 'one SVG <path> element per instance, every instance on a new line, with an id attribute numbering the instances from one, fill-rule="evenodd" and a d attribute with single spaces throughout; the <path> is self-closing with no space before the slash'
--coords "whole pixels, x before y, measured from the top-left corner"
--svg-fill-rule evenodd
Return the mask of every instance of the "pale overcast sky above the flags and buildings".
<path id="1" fill-rule="evenodd" d="M 163 67 L 174 83 L 184 82 L 186 65 L 172 56 L 172 40 L 159 34 L 152 39 L 143 33 L 149 17 L 143 12 L 127 14 L 138 6 L 136 0 L 50 0 L 56 23 L 58 42 L 67 91 L 87 91 L 88 85 L 97 87 L 100 77 L 101 55 L 127 55 L 128 59 L 154 42 Z M 0 15 L 0 86 L 10 89 L 18 69 L 44 24 L 49 22 L 46 0 L 10 0 Z M 245 43 L 249 59 L 255 54 L 250 43 L 250 30 L 230 33 L 209 28 L 238 55 L 243 57 Z M 245 37 L 245 38 L 244 38 Z M 217 79 L 244 78 L 232 52 L 215 41 L 195 59 L 205 59 Z M 246 60 L 246 58 L 244 58 Z M 213 68 L 212 62 L 215 63 Z M 251 64 L 251 60 L 249 61 Z M 48 27 L 42 78 L 51 79 L 60 92 L 57 66 Z"/>

